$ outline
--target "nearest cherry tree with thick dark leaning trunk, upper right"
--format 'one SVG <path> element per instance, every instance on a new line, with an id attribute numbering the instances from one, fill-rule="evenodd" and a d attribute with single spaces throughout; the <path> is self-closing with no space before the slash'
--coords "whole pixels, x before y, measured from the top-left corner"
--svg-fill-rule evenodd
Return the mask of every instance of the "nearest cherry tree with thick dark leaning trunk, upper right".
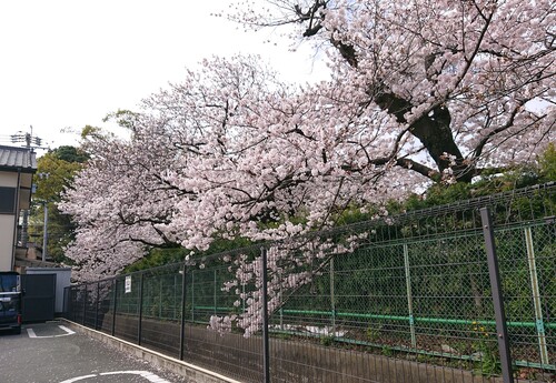
<path id="1" fill-rule="evenodd" d="M 341 83 L 329 95 L 351 101 L 354 113 L 336 115 L 387 135 L 386 142 L 354 142 L 363 165 L 470 181 L 485 167 L 530 159 L 540 142 L 554 138 L 556 30 L 549 0 L 267 3 L 275 7 L 257 10 L 246 1 L 236 20 L 254 27 L 294 23 L 294 38 L 297 32 L 298 39 L 329 47 Z M 539 100 L 550 108 L 536 109 Z M 377 123 L 373 113 L 390 124 Z M 417 152 L 429 161 L 411 155 Z M 360 171 L 361 164 L 346 168 Z"/>

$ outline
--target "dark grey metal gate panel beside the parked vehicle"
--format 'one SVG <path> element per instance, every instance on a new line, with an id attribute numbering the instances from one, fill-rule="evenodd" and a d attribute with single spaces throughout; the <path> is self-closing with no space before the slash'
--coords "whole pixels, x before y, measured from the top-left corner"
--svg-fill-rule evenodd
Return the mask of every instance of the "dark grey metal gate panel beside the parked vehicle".
<path id="1" fill-rule="evenodd" d="M 21 275 L 23 322 L 42 322 L 54 319 L 56 274 Z"/>

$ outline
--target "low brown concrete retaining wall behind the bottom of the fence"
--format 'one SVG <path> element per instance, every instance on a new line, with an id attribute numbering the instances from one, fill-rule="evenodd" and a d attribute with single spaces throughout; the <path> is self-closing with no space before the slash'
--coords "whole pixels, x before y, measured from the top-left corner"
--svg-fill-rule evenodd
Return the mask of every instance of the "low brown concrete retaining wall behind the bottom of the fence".
<path id="1" fill-rule="evenodd" d="M 116 335 L 137 343 L 137 318 L 117 315 Z M 176 322 L 143 319 L 141 344 L 179 357 L 179 331 Z M 135 345 L 129 343 L 129 346 Z M 476 375 L 470 371 L 309 342 L 271 339 L 270 353 L 271 376 L 277 382 L 502 383 L 502 379 Z M 186 364 L 210 369 L 238 381 L 262 381 L 262 347 L 258 336 L 220 335 L 202 326 L 188 325 L 183 360 Z"/>

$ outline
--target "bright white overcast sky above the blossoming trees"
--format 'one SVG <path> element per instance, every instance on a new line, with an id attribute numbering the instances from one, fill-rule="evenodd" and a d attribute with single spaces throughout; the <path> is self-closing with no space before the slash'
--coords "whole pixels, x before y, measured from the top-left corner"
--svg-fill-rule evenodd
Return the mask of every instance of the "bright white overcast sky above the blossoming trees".
<path id="1" fill-rule="evenodd" d="M 232 2 L 1 1 L 0 144 L 30 125 L 52 148 L 77 144 L 76 134 L 60 131 L 106 128 L 101 120 L 109 112 L 133 110 L 212 54 L 259 53 L 289 80 L 322 75 L 308 47 L 291 53 L 288 41 L 264 43 L 276 40 L 276 31 L 245 32 L 210 16 Z"/>

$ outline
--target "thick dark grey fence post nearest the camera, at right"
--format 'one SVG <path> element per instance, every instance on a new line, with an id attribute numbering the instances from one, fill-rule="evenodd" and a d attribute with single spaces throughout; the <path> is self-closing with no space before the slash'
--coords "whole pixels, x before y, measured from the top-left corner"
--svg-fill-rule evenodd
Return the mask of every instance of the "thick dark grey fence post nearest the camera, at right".
<path id="1" fill-rule="evenodd" d="M 504 296 L 500 285 L 498 259 L 496 256 L 493 219 L 490 216 L 490 210 L 488 208 L 480 209 L 480 221 L 483 223 L 483 234 L 485 236 L 485 246 L 488 261 L 488 275 L 490 276 L 490 291 L 493 294 L 496 332 L 498 335 L 498 352 L 500 354 L 502 379 L 504 383 L 514 383 L 508 329 L 506 323 L 506 313 L 504 311 Z"/>

